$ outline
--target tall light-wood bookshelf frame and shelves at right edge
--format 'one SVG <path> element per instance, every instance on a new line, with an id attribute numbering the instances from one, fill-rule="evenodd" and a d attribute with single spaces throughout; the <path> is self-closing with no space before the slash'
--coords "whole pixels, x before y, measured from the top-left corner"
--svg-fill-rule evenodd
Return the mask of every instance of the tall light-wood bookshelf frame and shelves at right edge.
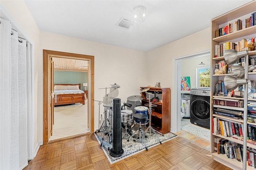
<path id="1" fill-rule="evenodd" d="M 216 63 L 218 61 L 223 61 L 224 57 L 223 56 L 218 56 L 214 57 L 215 55 L 215 45 L 220 45 L 226 42 L 238 42 L 241 41 L 242 39 L 248 39 L 248 38 L 256 38 L 256 25 L 250 26 L 248 28 L 243 28 L 242 30 L 228 33 L 223 36 L 216 36 L 216 30 L 219 30 L 219 28 L 223 28 L 225 25 L 228 25 L 229 23 L 232 23 L 238 19 L 244 20 L 245 18 L 248 18 L 248 16 L 254 12 L 256 12 L 256 0 L 249 2 L 248 4 L 245 4 L 244 6 L 241 6 L 239 8 L 236 8 L 235 10 L 232 10 L 226 14 L 223 14 L 221 16 L 218 16 L 217 18 L 214 18 L 211 21 L 211 34 L 212 34 L 212 40 L 211 40 L 211 99 L 210 99 L 210 105 L 211 105 L 211 148 L 210 151 L 214 157 L 214 160 L 232 168 L 232 169 L 242 169 L 243 168 L 243 163 L 239 162 L 235 158 L 231 159 L 226 156 L 226 154 L 218 154 L 214 150 L 214 144 L 215 144 L 215 138 L 223 138 L 227 139 L 231 142 L 243 145 L 243 139 L 241 138 L 234 138 L 232 136 L 224 136 L 221 134 L 216 134 L 214 133 L 214 118 L 221 119 L 224 121 L 232 122 L 232 123 L 238 123 L 243 125 L 243 120 L 238 120 L 238 119 L 233 119 L 231 117 L 225 117 L 222 115 L 217 115 L 214 114 L 214 109 L 215 108 L 220 108 L 220 109 L 232 109 L 236 111 L 244 111 L 243 107 L 230 107 L 230 106 L 222 106 L 222 105 L 214 105 L 214 97 L 218 98 L 223 98 L 223 99 L 236 99 L 236 100 L 244 100 L 244 98 L 240 97 L 226 97 L 226 96 L 217 96 L 215 95 L 215 85 L 218 83 L 218 81 L 224 81 L 225 75 L 234 75 L 233 73 L 228 73 L 228 74 L 214 74 L 214 69 L 216 67 Z M 256 57 L 256 50 L 252 50 L 249 52 L 249 57 Z M 254 80 L 256 81 L 256 72 L 250 72 L 248 73 L 248 80 Z M 256 101 L 256 99 L 248 99 L 248 101 Z M 245 117 L 244 119 L 247 118 Z M 247 127 L 247 125 L 254 125 L 256 126 L 256 123 L 246 123 L 244 127 Z M 256 141 L 252 141 L 250 139 L 246 139 L 246 145 L 247 147 L 254 148 L 256 149 Z M 243 160 L 246 160 L 243 158 Z M 255 169 L 252 166 L 248 166 L 246 162 L 246 168 L 247 169 Z"/>

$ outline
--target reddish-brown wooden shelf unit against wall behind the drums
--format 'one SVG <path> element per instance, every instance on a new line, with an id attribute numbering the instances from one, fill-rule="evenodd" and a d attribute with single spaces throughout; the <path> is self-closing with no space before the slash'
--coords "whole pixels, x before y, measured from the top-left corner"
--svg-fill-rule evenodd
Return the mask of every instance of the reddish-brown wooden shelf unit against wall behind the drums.
<path id="1" fill-rule="evenodd" d="M 157 94 L 160 101 L 152 102 L 152 104 L 157 105 L 157 107 L 152 107 L 151 115 L 151 126 L 162 134 L 170 132 L 170 103 L 171 103 L 171 89 L 170 88 L 161 88 L 161 87 L 140 87 L 140 89 L 150 88 L 147 92 L 142 92 L 141 96 L 143 97 L 141 103 L 142 106 L 149 103 L 146 93 Z M 150 95 L 150 99 L 154 96 Z"/>

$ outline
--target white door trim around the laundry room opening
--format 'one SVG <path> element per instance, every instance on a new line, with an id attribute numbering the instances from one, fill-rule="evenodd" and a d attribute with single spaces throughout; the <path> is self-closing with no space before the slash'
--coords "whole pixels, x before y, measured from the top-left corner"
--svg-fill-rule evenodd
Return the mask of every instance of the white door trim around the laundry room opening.
<path id="1" fill-rule="evenodd" d="M 197 53 L 192 53 L 188 55 L 183 55 L 179 57 L 174 57 L 172 59 L 172 109 L 171 109 L 171 132 L 176 133 L 181 128 L 180 121 L 180 61 L 182 59 L 188 59 L 192 57 L 204 57 L 209 55 L 210 49 L 205 51 L 200 51 Z"/>

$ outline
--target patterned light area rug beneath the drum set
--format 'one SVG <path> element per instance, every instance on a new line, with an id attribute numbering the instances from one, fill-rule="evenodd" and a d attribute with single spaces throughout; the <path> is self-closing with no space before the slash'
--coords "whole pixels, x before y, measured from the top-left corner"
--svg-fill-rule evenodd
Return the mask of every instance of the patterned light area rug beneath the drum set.
<path id="1" fill-rule="evenodd" d="M 137 128 L 135 127 L 135 129 L 137 129 Z M 124 132 L 125 131 L 122 128 L 122 136 L 123 136 Z M 132 132 L 134 133 L 135 131 L 132 131 Z M 96 138 L 98 139 L 98 142 L 101 144 L 102 132 L 97 132 L 94 134 L 95 134 Z M 147 134 L 148 134 L 147 135 L 148 137 L 145 138 L 147 148 L 150 148 L 150 147 L 156 146 L 157 144 L 160 144 L 159 140 L 154 135 L 154 133 L 151 132 L 151 136 L 149 133 L 147 133 Z M 158 134 L 156 132 L 156 135 L 159 137 L 159 139 L 162 143 L 177 137 L 176 134 L 173 134 L 171 132 L 164 134 L 164 136 L 162 136 L 161 134 Z M 138 137 L 138 134 L 136 134 L 134 136 Z M 115 158 L 115 157 L 110 156 L 110 150 L 112 149 L 112 142 L 110 142 L 110 144 L 109 144 L 108 135 L 105 135 L 103 144 L 102 144 L 102 149 L 104 150 L 106 156 L 108 157 L 110 164 L 113 164 L 115 162 L 118 162 L 119 160 L 127 158 L 128 156 L 132 156 L 136 153 L 139 153 L 139 152 L 145 150 L 145 146 L 142 142 L 134 141 L 133 138 L 130 138 L 129 141 L 127 141 L 127 139 L 125 139 L 125 138 L 122 138 L 122 149 L 124 150 L 124 153 L 122 154 L 122 156 Z"/>

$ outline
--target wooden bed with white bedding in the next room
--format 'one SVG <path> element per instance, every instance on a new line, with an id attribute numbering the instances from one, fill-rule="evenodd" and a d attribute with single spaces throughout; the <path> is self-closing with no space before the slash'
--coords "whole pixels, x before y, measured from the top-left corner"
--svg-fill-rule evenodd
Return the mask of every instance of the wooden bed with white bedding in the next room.
<path id="1" fill-rule="evenodd" d="M 80 90 L 81 84 L 55 84 L 54 106 L 81 103 L 84 105 L 85 93 Z"/>

